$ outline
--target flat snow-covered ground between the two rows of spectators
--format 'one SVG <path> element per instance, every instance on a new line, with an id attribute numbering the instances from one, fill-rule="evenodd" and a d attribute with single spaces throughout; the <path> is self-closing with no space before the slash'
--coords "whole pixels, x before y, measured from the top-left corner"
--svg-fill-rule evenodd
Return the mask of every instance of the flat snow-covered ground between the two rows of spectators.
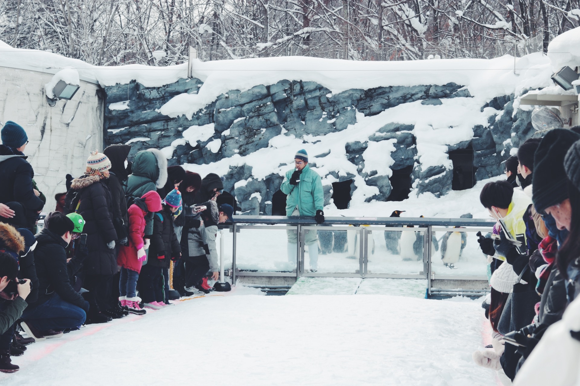
<path id="1" fill-rule="evenodd" d="M 480 302 L 385 295 L 198 297 L 13 357 L 3 385 L 497 385 L 472 352 Z"/>

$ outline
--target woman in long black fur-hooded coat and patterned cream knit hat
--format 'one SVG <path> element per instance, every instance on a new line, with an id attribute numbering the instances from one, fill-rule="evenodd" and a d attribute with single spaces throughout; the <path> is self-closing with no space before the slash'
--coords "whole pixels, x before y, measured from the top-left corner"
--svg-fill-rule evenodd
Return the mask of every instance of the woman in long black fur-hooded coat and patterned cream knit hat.
<path id="1" fill-rule="evenodd" d="M 100 314 L 117 307 L 111 304 L 113 275 L 117 273 L 117 233 L 113 225 L 113 196 L 103 179 L 109 177 L 111 161 L 103 153 L 93 152 L 86 161 L 85 175 L 73 179 L 67 193 L 67 212 L 77 212 L 85 219 L 84 233 L 89 255 L 83 263 L 90 303 L 87 322 L 107 322 Z"/>

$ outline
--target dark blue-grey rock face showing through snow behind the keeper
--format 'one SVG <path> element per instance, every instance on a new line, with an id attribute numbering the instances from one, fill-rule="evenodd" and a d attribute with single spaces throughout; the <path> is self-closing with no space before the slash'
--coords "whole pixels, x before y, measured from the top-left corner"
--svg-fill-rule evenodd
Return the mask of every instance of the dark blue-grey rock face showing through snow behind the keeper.
<path id="1" fill-rule="evenodd" d="M 306 135 L 317 137 L 345 130 L 349 124 L 357 122 L 357 112 L 366 117 L 408 102 L 441 105 L 444 98 L 471 97 L 466 87 L 455 83 L 350 89 L 332 94 L 315 82 L 281 80 L 275 84 L 259 84 L 247 91 L 230 90 L 191 119 L 185 116 L 172 119 L 155 111 L 173 96 L 197 93 L 201 86 L 199 79 L 180 79 L 163 87 L 144 87 L 136 82 L 106 87 L 105 142 L 132 143 L 131 156 L 149 147 L 163 149 L 170 159 L 169 164 L 210 164 L 267 148 L 270 139 L 281 134 L 302 139 Z M 502 162 L 509 157 L 510 149 L 532 135 L 531 112 L 519 110 L 513 114 L 513 102 L 514 95 L 504 95 L 481 106 L 481 111 L 486 107 L 497 110 L 490 116 L 488 127 L 473 127 L 472 139 L 448 144 L 448 151 L 473 149 L 477 180 L 501 174 Z M 195 135 L 189 134 L 192 127 Z M 391 192 L 389 175 L 379 175 L 376 170 L 365 171 L 368 168 L 365 169 L 363 153 L 369 144 L 375 146 L 382 141 L 390 141 L 393 145 L 391 169 L 414 167 L 411 178 L 415 194 L 432 192 L 440 196 L 451 190 L 451 169 L 444 165 L 425 170 L 420 167 L 413 130 L 413 125 L 388 122 L 367 141 L 345 141 L 345 157 L 356 166 L 366 185 L 379 189 L 378 194 L 367 197 L 366 201 L 386 201 Z M 332 171 L 328 175 L 332 175 L 334 181 L 355 177 L 351 173 Z M 251 167 L 231 166 L 225 189 L 237 198 L 242 212 L 270 214 L 272 195 L 281 181 L 279 174 L 255 179 Z M 324 188 L 325 204 L 328 204 L 332 186 Z M 357 186 L 353 184 L 351 190 L 355 189 Z"/>

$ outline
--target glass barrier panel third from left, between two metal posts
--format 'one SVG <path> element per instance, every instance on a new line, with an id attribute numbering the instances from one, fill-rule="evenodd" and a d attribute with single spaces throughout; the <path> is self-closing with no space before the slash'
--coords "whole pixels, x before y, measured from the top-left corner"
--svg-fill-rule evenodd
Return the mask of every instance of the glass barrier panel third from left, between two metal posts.
<path id="1" fill-rule="evenodd" d="M 423 271 L 425 231 L 368 230 L 367 274 L 418 275 Z"/>

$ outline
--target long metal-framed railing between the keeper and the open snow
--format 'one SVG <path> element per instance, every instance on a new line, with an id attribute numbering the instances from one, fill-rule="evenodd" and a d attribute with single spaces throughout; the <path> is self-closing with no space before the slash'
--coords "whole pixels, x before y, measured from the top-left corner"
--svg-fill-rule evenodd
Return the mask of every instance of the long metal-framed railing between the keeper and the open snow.
<path id="1" fill-rule="evenodd" d="M 229 229 L 230 233 L 233 234 L 232 240 L 232 263 L 230 276 L 232 282 L 235 283 L 238 277 L 243 276 L 254 276 L 254 277 L 356 277 L 356 278 L 408 278 L 408 279 L 425 279 L 428 281 L 429 293 L 440 292 L 440 289 L 432 288 L 433 281 L 437 280 L 450 280 L 459 281 L 459 283 L 466 284 L 466 281 L 487 281 L 487 275 L 482 274 L 481 269 L 486 267 L 487 262 L 485 261 L 483 253 L 476 252 L 474 244 L 472 248 L 472 255 L 476 255 L 477 264 L 476 270 L 473 271 L 461 271 L 454 273 L 454 270 L 443 268 L 443 263 L 440 261 L 435 261 L 433 258 L 436 255 L 434 248 L 437 247 L 437 237 L 436 234 L 443 234 L 443 237 L 447 233 L 459 232 L 462 233 L 475 233 L 481 231 L 482 233 L 490 232 L 492 226 L 495 223 L 493 219 L 465 219 L 465 218 L 379 218 L 379 217 L 327 217 L 323 225 L 316 225 L 316 221 L 312 217 L 290 217 L 290 216 L 234 216 L 235 222 L 232 225 L 220 226 L 222 229 Z M 408 227 L 413 226 L 413 227 Z M 458 227 L 455 227 L 458 226 Z M 297 234 L 297 248 L 296 248 L 296 260 L 294 269 L 278 269 L 278 270 L 253 270 L 253 269 L 240 269 L 238 266 L 238 253 L 240 253 L 239 242 L 240 234 L 242 230 L 292 230 L 296 231 Z M 340 232 L 346 231 L 347 234 L 355 240 L 356 254 L 358 255 L 358 264 L 356 260 L 352 262 L 349 269 L 336 269 L 335 271 L 311 271 L 306 267 L 306 249 L 305 245 L 306 236 L 310 231 L 317 231 L 320 235 L 324 231 Z M 369 264 L 369 257 L 372 255 L 371 249 L 374 248 L 375 239 L 373 238 L 373 232 L 400 232 L 401 236 L 403 232 L 414 232 L 417 240 L 422 237 L 422 246 L 418 244 L 415 247 L 422 250 L 417 257 L 416 262 L 407 262 L 406 264 L 415 264 L 413 267 L 422 267 L 422 269 L 412 273 L 408 272 L 385 272 L 376 271 L 371 269 L 373 267 L 371 263 Z M 441 239 L 443 239 L 441 237 Z M 440 240 L 441 240 L 440 239 Z M 381 239 L 382 240 L 382 239 Z M 385 239 L 386 240 L 386 239 Z M 412 240 L 412 238 L 411 238 Z M 464 238 L 461 238 L 462 244 Z M 467 237 L 465 237 L 465 246 L 467 245 Z M 471 239 L 471 242 L 476 243 L 475 238 Z M 286 244 L 287 245 L 287 244 Z M 286 253 L 286 245 L 280 245 L 278 249 L 276 244 L 277 252 L 282 251 Z M 260 245 L 256 245 L 258 250 Z M 463 252 L 463 248 L 461 248 Z M 439 252 L 441 254 L 441 252 Z M 477 254 L 478 253 L 478 254 Z M 420 256 L 422 254 L 422 256 Z M 373 258 L 378 258 L 377 255 L 372 255 Z M 274 257 L 274 256 L 271 256 Z M 382 256 L 381 256 L 382 257 Z M 278 259 L 280 257 L 278 256 Z M 357 256 L 354 256 L 356 259 Z M 478 259 L 481 259 L 479 262 Z M 437 266 L 435 263 L 437 262 Z M 293 264 L 293 263 L 292 263 Z M 394 263 L 395 266 L 397 263 Z M 403 263 L 401 263 L 403 264 Z M 376 267 L 376 264 L 375 264 Z M 437 268 L 436 268 L 437 267 Z M 437 273 L 434 269 L 437 269 Z M 473 267 L 472 267 L 473 268 Z M 481 268 L 481 269 L 480 269 Z M 412 270 L 412 269 L 411 269 Z M 441 271 L 443 270 L 443 272 Z M 445 271 L 447 270 L 447 272 Z M 470 291 L 471 289 L 467 289 Z M 476 291 L 477 292 L 477 291 Z"/>

